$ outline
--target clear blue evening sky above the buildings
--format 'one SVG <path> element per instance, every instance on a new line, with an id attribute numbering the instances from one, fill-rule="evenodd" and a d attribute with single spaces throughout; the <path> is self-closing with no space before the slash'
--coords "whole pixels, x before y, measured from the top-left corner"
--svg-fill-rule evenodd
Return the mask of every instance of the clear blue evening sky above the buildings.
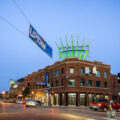
<path id="1" fill-rule="evenodd" d="M 55 41 L 80 41 L 86 36 L 89 60 L 111 65 L 120 72 L 120 0 L 16 0 L 30 23 L 53 49 L 51 59 L 33 41 L 0 19 L 0 92 L 9 90 L 9 80 L 17 80 L 59 60 Z M 12 0 L 0 0 L 0 16 L 26 35 L 29 23 Z"/>

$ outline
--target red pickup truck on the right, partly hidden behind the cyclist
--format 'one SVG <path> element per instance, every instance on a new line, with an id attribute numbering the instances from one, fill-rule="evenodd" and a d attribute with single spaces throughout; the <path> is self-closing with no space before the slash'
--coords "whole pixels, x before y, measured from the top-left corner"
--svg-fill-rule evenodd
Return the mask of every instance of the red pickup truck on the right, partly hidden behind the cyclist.
<path id="1" fill-rule="evenodd" d="M 108 103 L 108 100 L 100 99 L 98 102 L 91 102 L 89 105 L 89 108 L 93 110 L 107 111 L 107 103 Z M 117 110 L 120 112 L 120 104 L 113 102 L 111 105 L 114 110 Z"/>

